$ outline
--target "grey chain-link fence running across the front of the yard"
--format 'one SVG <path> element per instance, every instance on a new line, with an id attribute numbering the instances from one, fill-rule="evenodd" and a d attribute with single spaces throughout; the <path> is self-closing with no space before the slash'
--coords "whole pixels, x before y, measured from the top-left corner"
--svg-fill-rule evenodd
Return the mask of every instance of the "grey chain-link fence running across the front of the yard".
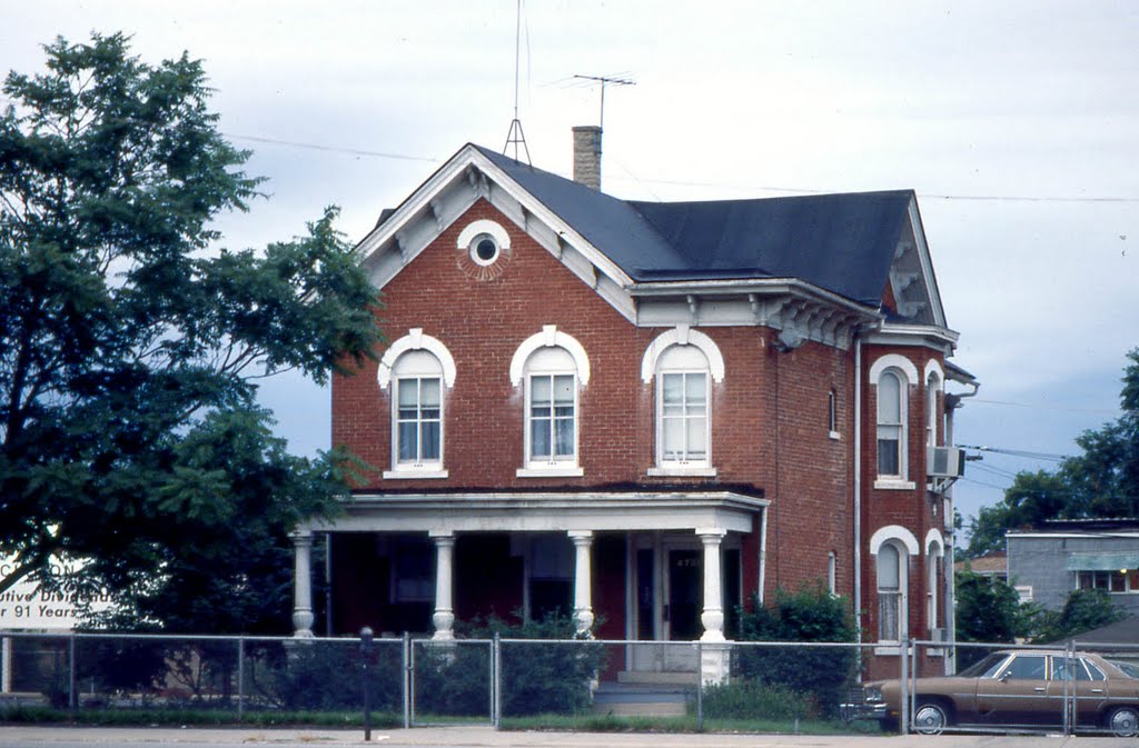
<path id="1" fill-rule="evenodd" d="M 358 724 L 363 712 L 411 728 L 640 715 L 697 730 L 1139 734 L 1139 646 L 1128 644 L 95 633 L 2 641 L 0 717 L 28 707 L 71 716 L 177 709 L 219 722 L 331 713 Z M 723 677 L 702 684 L 702 672 Z"/>

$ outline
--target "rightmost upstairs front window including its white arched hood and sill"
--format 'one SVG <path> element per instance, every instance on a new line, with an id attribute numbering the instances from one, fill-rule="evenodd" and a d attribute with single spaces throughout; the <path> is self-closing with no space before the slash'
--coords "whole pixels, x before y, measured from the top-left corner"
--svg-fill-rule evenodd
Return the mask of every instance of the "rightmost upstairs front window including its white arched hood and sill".
<path id="1" fill-rule="evenodd" d="M 656 380 L 656 467 L 649 475 L 715 475 L 712 385 L 723 380 L 716 344 L 687 324 L 667 330 L 645 352 L 641 379 Z"/>

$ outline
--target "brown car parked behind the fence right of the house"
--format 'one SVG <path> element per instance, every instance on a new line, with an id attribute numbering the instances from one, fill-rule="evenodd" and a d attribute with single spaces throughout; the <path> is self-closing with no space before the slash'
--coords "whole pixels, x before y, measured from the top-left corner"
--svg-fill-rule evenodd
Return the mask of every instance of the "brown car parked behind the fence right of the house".
<path id="1" fill-rule="evenodd" d="M 954 676 L 917 679 L 913 730 L 936 734 L 950 725 L 1058 728 L 1064 705 L 1074 704 L 1076 730 L 1139 735 L 1139 679 L 1128 668 L 1087 652 L 993 652 Z M 886 728 L 898 725 L 899 681 L 867 683 L 863 713 L 876 714 Z"/>

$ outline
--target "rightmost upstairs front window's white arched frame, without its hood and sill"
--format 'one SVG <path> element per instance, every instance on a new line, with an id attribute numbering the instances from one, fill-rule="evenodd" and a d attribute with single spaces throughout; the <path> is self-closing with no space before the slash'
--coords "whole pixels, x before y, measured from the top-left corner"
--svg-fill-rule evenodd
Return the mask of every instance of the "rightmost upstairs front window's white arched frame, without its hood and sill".
<path id="1" fill-rule="evenodd" d="M 695 345 L 669 346 L 656 362 L 656 443 L 661 467 L 711 465 L 708 361 Z"/>

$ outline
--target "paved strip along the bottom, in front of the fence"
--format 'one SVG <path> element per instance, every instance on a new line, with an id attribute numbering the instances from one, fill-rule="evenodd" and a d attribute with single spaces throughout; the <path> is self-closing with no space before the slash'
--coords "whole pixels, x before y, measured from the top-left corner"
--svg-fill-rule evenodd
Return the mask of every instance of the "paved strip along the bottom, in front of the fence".
<path id="1" fill-rule="evenodd" d="M 1136 748 L 1133 738 L 1026 735 L 754 735 L 614 732 L 497 732 L 490 728 L 419 728 L 363 732 L 335 730 L 175 730 L 157 728 L 0 726 L 0 747 L 91 748 L 170 746 L 172 748 Z"/>

